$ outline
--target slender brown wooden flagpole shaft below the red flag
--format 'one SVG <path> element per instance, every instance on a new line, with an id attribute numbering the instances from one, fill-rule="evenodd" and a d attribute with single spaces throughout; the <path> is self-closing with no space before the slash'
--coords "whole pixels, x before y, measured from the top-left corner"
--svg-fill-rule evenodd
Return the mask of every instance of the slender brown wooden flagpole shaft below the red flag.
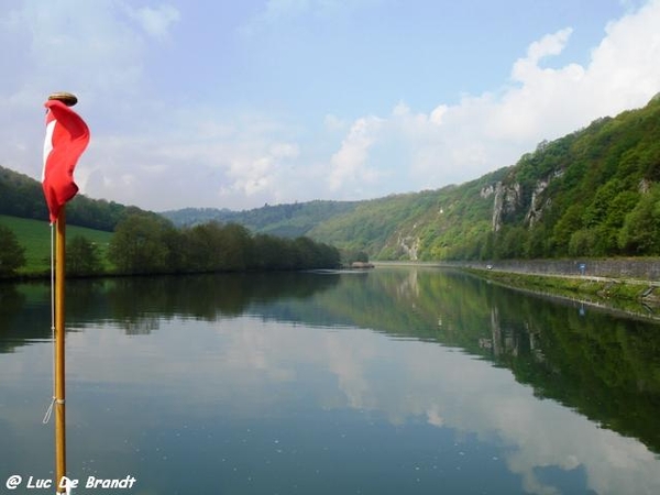
<path id="1" fill-rule="evenodd" d="M 55 486 L 57 493 L 65 493 L 59 486 L 66 476 L 66 416 L 65 416 L 65 257 L 66 257 L 66 213 L 62 207 L 57 217 L 55 235 Z"/>

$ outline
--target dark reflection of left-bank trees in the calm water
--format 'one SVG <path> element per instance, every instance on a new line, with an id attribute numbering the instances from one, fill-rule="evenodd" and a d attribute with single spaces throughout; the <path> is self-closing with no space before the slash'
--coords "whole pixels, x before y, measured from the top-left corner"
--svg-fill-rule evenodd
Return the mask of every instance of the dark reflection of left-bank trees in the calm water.
<path id="1" fill-rule="evenodd" d="M 66 328 L 72 331 L 108 320 L 129 334 L 144 334 L 156 330 L 163 318 L 238 316 L 253 305 L 309 298 L 338 280 L 332 274 L 292 272 L 70 279 L 66 285 Z M 24 309 L 24 292 L 31 298 L 30 311 Z M 32 339 L 50 339 L 48 305 L 48 285 L 0 285 L 0 352 Z"/>

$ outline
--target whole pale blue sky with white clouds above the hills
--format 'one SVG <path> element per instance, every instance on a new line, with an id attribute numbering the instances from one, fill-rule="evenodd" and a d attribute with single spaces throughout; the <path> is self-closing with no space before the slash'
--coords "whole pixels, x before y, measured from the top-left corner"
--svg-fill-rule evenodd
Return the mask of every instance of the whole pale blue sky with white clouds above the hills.
<path id="1" fill-rule="evenodd" d="M 0 165 L 75 92 L 84 194 L 156 211 L 435 189 L 660 91 L 660 0 L 0 0 Z"/>

